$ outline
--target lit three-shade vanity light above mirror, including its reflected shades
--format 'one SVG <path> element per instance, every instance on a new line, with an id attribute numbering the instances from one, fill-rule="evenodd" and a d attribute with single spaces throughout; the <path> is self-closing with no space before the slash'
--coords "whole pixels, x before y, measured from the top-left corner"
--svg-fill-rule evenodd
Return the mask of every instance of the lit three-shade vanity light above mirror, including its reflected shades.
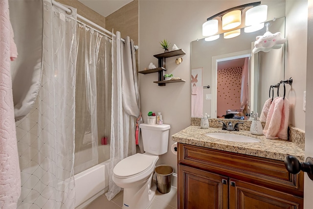
<path id="1" fill-rule="evenodd" d="M 245 15 L 246 15 L 245 24 L 246 26 L 251 26 L 251 27 L 249 27 L 246 30 L 249 32 L 253 32 L 253 31 L 262 29 L 264 27 L 264 22 L 267 20 L 268 6 L 261 5 L 261 1 L 247 3 L 247 4 L 243 4 L 240 6 L 236 6 L 236 7 L 224 10 L 223 12 L 220 12 L 216 15 L 213 15 L 212 17 L 209 17 L 206 20 L 206 22 L 202 24 L 202 35 L 210 36 L 210 38 L 207 37 L 205 41 L 214 40 L 213 39 L 214 35 L 219 32 L 219 20 L 222 21 L 223 30 L 230 30 L 230 29 L 233 29 L 242 25 L 241 19 L 242 19 L 243 11 L 248 7 L 251 7 L 251 8 L 246 10 L 245 12 Z M 263 26 L 260 23 L 263 23 Z M 235 31 L 236 32 L 227 31 L 228 34 L 224 35 L 224 38 L 228 38 L 228 37 L 233 38 L 233 37 L 240 35 L 240 31 L 239 32 L 238 30 L 235 30 Z"/>

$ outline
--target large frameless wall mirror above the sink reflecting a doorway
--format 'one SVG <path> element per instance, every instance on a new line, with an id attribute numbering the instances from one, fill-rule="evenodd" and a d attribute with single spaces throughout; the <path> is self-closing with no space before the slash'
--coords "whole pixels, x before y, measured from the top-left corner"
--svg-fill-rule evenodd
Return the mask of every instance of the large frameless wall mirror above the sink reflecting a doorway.
<path id="1" fill-rule="evenodd" d="M 268 31 L 281 32 L 285 37 L 285 17 L 266 23 Z M 234 114 L 231 117 L 233 119 L 246 119 L 243 117 L 246 112 L 261 113 L 269 97 L 270 85 L 284 79 L 285 63 L 285 45 L 269 52 L 251 52 L 256 37 L 266 31 L 266 26 L 251 33 L 245 33 L 244 28 L 241 28 L 241 35 L 235 38 L 224 39 L 223 34 L 220 34 L 220 38 L 215 41 L 205 41 L 203 38 L 191 42 L 191 87 L 202 87 L 198 88 L 198 92 L 192 88 L 192 117 L 207 113 L 213 118 Z M 248 65 L 248 85 L 245 91 L 248 96 L 246 109 L 242 110 L 241 81 L 245 59 Z M 274 96 L 277 96 L 276 92 Z"/>

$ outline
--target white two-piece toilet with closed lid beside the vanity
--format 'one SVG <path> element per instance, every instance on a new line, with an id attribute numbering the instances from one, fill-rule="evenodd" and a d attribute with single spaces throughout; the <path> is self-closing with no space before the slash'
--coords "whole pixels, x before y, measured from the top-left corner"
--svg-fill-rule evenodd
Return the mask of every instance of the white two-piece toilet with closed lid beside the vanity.
<path id="1" fill-rule="evenodd" d="M 129 156 L 113 168 L 113 182 L 124 188 L 123 209 L 147 209 L 156 194 L 152 183 L 158 156 L 167 152 L 170 125 L 139 125 L 145 153 Z"/>

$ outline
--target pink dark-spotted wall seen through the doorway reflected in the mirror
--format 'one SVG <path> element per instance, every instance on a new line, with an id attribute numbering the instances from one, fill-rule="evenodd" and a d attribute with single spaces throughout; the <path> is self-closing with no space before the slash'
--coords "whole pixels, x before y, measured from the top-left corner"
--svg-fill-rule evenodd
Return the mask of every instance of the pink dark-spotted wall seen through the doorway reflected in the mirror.
<path id="1" fill-rule="evenodd" d="M 217 71 L 217 116 L 226 110 L 240 109 L 242 67 L 219 69 Z"/>

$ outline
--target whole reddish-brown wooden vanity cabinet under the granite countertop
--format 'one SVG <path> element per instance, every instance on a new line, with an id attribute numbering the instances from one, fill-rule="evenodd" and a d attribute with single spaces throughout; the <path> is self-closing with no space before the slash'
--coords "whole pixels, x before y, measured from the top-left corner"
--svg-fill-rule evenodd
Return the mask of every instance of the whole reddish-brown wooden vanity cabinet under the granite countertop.
<path id="1" fill-rule="evenodd" d="M 179 209 L 303 209 L 283 161 L 178 143 Z"/>

